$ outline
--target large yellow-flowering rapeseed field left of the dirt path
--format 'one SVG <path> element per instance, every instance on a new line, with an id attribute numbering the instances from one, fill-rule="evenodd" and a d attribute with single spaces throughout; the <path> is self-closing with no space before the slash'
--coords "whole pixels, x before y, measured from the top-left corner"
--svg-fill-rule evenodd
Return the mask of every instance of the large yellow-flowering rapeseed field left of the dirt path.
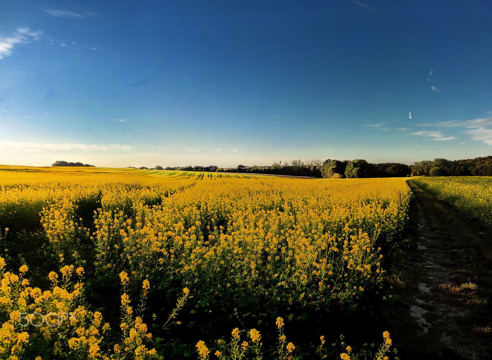
<path id="1" fill-rule="evenodd" d="M 2 167 L 0 352 L 333 355 L 320 341 L 384 286 L 411 197 L 397 178 Z"/>

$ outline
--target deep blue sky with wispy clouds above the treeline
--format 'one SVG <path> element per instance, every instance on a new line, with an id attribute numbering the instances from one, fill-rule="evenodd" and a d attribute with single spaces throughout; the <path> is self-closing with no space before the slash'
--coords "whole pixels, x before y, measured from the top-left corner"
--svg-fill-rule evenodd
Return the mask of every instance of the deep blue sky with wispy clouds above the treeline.
<path id="1" fill-rule="evenodd" d="M 485 0 L 3 0 L 0 164 L 490 155 L 491 18 Z"/>

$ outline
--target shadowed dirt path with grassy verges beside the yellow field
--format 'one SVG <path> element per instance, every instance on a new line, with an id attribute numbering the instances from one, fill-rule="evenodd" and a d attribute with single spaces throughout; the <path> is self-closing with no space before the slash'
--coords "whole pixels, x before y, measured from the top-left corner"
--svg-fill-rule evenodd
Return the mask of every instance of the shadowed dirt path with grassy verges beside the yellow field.
<path id="1" fill-rule="evenodd" d="M 406 353 L 400 359 L 491 359 L 492 333 L 480 331 L 491 323 L 491 227 L 409 186 L 413 247 L 400 253 L 395 270 L 406 314 L 387 315 Z"/>

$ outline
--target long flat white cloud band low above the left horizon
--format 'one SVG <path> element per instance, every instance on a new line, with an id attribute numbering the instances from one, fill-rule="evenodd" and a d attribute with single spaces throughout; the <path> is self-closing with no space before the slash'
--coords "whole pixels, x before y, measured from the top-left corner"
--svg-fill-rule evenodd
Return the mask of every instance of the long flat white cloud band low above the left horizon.
<path id="1" fill-rule="evenodd" d="M 31 143 L 31 142 L 15 142 L 15 141 L 1 141 L 0 140 L 0 150 L 2 151 L 43 151 L 43 150 L 54 150 L 54 151 L 70 151 L 70 150 L 132 150 L 131 146 L 119 145 L 119 144 L 109 144 L 109 145 L 85 145 L 85 144 L 49 144 L 49 143 Z"/>

